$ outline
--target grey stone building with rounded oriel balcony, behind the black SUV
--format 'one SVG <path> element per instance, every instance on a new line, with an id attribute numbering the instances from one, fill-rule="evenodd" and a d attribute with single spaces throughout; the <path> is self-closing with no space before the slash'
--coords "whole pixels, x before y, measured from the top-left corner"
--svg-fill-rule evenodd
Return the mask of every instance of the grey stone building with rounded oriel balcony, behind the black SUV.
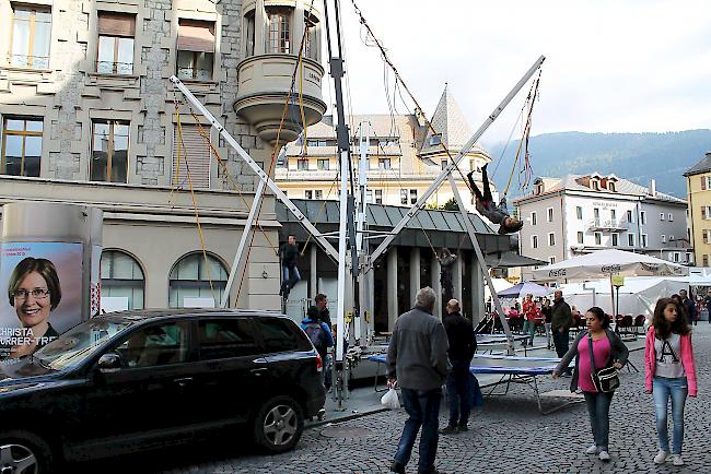
<path id="1" fill-rule="evenodd" d="M 104 296 L 127 308 L 219 303 L 257 178 L 168 78 L 267 163 L 326 110 L 320 4 L 0 0 L 0 204 L 103 209 Z M 303 118 L 281 121 L 298 66 Z M 267 197 L 233 305 L 280 308 L 278 227 Z"/>

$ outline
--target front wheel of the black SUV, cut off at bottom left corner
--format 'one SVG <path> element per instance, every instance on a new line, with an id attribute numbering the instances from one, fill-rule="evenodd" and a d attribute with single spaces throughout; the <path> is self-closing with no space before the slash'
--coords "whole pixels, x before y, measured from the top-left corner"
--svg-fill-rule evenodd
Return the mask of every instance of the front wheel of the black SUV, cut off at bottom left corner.
<path id="1" fill-rule="evenodd" d="M 0 435 L 0 473 L 45 474 L 51 462 L 51 450 L 38 436 L 22 430 Z"/>

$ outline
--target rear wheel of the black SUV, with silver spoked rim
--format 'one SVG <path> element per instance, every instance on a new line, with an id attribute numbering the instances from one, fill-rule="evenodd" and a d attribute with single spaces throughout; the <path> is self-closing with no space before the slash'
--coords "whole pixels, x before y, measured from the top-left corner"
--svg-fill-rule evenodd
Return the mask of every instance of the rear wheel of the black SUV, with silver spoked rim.
<path id="1" fill-rule="evenodd" d="M 303 410 L 291 396 L 276 396 L 257 411 L 255 442 L 271 453 L 292 449 L 304 430 Z"/>

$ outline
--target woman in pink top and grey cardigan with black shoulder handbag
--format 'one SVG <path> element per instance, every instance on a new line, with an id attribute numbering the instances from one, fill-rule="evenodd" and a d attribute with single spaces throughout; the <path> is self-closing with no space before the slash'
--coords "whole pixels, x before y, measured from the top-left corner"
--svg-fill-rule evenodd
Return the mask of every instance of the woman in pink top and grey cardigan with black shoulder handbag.
<path id="1" fill-rule="evenodd" d="M 574 357 L 570 391 L 582 390 L 595 439 L 585 452 L 598 454 L 601 461 L 609 462 L 609 405 L 615 389 L 619 387 L 617 369 L 627 363 L 628 351 L 622 340 L 608 329 L 609 320 L 601 308 L 595 306 L 587 310 L 585 325 L 587 331 L 581 331 L 575 337 L 553 370 L 553 379 L 560 377 Z"/>

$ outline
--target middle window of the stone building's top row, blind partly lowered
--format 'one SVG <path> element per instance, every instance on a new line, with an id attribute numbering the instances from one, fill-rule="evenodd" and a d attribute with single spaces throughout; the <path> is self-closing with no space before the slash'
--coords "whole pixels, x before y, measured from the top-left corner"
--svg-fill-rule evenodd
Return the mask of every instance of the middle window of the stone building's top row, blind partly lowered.
<path id="1" fill-rule="evenodd" d="M 135 36 L 136 15 L 98 12 L 96 72 L 132 74 Z"/>

